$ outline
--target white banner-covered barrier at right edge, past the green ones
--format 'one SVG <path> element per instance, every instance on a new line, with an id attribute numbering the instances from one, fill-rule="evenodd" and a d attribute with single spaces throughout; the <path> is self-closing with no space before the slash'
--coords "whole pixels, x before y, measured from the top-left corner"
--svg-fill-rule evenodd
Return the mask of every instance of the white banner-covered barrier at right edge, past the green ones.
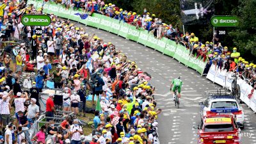
<path id="1" fill-rule="evenodd" d="M 212 65 L 206 78 L 211 80 L 214 83 L 220 84 L 221 86 L 227 86 L 229 90 L 232 89 L 232 72 L 225 72 L 216 68 L 215 65 Z M 247 104 L 254 112 L 256 112 L 256 92 L 250 93 L 253 90 L 253 87 L 250 86 L 246 81 L 240 77 L 237 79 L 237 84 L 240 87 L 240 99 Z"/>

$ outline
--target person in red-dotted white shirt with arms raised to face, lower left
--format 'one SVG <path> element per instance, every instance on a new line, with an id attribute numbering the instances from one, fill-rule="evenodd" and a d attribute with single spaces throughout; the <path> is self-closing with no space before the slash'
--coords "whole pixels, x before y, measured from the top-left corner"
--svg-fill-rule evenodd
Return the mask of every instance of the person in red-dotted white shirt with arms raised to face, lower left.
<path id="1" fill-rule="evenodd" d="M 18 112 L 22 111 L 24 113 L 25 108 L 24 108 L 24 102 L 26 102 L 26 100 L 29 100 L 28 97 L 28 93 L 24 92 L 18 92 L 17 93 L 17 98 L 14 99 L 14 104 L 15 104 L 15 115 L 17 118 L 19 118 L 18 116 Z"/>

